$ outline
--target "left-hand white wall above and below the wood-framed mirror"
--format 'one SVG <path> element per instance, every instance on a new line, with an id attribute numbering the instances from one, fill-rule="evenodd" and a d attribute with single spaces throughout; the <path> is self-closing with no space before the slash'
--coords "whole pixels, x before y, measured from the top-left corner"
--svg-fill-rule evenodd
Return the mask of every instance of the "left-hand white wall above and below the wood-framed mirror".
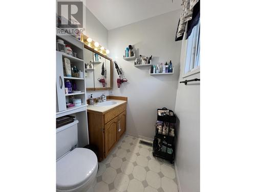
<path id="1" fill-rule="evenodd" d="M 108 30 L 99 22 L 88 8 L 86 9 L 86 35 L 91 37 L 94 41 L 99 42 L 99 45 L 109 49 Z M 105 93 L 106 96 L 109 95 L 108 90 L 87 91 L 87 99 L 91 94 L 93 94 L 93 98 L 96 98 L 101 96 L 102 93 Z"/>

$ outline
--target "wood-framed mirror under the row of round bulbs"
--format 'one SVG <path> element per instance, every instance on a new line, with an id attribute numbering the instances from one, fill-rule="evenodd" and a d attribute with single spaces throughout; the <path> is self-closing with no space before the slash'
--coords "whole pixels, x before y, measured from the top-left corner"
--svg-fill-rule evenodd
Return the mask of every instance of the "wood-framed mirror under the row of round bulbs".
<path id="1" fill-rule="evenodd" d="M 86 90 L 112 89 L 112 59 L 84 45 Z"/>

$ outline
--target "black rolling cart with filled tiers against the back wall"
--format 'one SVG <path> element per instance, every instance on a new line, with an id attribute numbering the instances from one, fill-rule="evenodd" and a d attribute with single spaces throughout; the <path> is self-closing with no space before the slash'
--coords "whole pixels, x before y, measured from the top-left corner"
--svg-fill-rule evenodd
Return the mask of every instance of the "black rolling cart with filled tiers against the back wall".
<path id="1" fill-rule="evenodd" d="M 153 156 L 174 163 L 176 116 L 166 108 L 157 110 L 156 135 L 153 142 Z"/>

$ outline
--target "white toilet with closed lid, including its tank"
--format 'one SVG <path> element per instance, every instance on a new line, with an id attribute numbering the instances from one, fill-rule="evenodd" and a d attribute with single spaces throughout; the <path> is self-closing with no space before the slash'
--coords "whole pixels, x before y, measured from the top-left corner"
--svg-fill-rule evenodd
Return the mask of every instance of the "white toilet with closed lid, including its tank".
<path id="1" fill-rule="evenodd" d="M 77 148 L 77 123 L 56 129 L 56 191 L 86 192 L 96 179 L 98 160 L 87 148 Z"/>

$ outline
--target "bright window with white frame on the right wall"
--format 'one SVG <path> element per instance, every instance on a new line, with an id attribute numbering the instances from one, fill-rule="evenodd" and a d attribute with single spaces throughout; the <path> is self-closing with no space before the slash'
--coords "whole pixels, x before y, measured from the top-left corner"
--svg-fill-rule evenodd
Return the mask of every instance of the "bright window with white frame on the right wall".
<path id="1" fill-rule="evenodd" d="M 183 77 L 200 72 L 200 22 L 187 38 L 186 61 Z"/>

